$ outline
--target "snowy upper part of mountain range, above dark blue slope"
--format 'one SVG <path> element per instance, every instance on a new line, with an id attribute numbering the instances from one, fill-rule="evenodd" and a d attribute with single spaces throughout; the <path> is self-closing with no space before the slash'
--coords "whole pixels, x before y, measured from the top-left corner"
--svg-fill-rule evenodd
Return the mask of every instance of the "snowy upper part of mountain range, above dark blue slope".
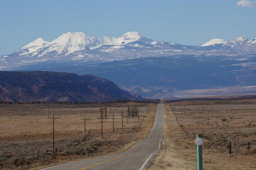
<path id="1" fill-rule="evenodd" d="M 118 38 L 95 38 L 84 32 L 67 32 L 52 42 L 38 38 L 13 54 L 0 56 L 0 70 L 42 62 L 80 64 L 180 54 L 237 56 L 245 52 L 256 54 L 256 38 L 212 39 L 202 46 L 186 46 L 154 41 L 138 32 L 127 32 Z"/>

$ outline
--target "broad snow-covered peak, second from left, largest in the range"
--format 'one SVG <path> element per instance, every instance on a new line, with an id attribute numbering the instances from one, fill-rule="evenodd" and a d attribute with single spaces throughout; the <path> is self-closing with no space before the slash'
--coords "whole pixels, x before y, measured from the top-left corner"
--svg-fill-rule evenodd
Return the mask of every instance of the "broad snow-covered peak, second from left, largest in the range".
<path id="1" fill-rule="evenodd" d="M 45 46 L 40 56 L 56 51 L 59 55 L 70 54 L 78 50 L 84 50 L 102 45 L 96 38 L 88 36 L 84 32 L 67 32 Z"/>

